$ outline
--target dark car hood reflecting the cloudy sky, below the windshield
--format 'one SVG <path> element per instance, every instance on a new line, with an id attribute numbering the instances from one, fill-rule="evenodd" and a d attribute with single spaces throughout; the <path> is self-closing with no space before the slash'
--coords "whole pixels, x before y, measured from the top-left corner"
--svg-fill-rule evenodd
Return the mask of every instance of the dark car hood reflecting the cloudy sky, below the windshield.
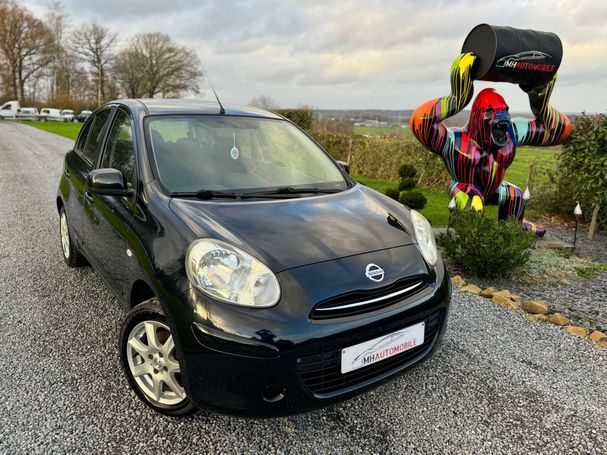
<path id="1" fill-rule="evenodd" d="M 170 208 L 199 238 L 238 246 L 274 272 L 415 243 L 409 211 L 361 185 L 293 199 L 173 198 Z"/>

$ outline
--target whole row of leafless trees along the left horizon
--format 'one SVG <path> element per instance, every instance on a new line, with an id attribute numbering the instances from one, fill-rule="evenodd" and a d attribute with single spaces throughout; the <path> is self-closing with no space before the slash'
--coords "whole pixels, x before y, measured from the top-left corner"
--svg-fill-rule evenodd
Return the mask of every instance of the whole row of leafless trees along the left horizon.
<path id="1" fill-rule="evenodd" d="M 119 97 L 199 94 L 203 73 L 191 49 L 160 32 L 119 43 L 95 21 L 73 27 L 53 1 L 43 18 L 0 0 L 0 101 L 95 108 Z"/>

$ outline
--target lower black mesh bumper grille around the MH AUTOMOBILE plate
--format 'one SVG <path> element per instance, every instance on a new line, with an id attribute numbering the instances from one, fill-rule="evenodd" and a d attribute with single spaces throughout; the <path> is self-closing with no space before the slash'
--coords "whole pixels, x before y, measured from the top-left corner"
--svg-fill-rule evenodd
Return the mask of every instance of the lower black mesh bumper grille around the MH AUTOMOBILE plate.
<path id="1" fill-rule="evenodd" d="M 427 353 L 434 346 L 443 320 L 443 313 L 442 310 L 438 311 L 426 319 L 424 344 L 420 346 L 345 374 L 341 373 L 339 355 L 341 351 L 339 349 L 323 351 L 297 359 L 299 375 L 306 388 L 320 398 L 337 395 L 356 386 L 373 382 L 380 377 L 389 376 L 409 366 L 412 361 Z"/>

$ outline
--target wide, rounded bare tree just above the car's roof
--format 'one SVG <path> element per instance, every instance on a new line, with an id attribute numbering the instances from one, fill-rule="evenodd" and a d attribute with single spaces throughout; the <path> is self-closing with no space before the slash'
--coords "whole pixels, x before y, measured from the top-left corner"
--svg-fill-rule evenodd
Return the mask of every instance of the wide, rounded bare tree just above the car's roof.
<path id="1" fill-rule="evenodd" d="M 116 58 L 114 74 L 130 97 L 179 97 L 200 93 L 200 59 L 164 33 L 131 38 Z"/>

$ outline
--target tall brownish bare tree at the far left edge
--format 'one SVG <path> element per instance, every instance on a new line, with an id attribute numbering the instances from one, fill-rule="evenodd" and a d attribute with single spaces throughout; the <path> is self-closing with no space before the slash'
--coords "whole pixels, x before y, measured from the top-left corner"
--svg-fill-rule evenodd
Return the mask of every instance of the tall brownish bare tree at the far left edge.
<path id="1" fill-rule="evenodd" d="M 28 10 L 14 1 L 0 2 L 0 53 L 4 79 L 12 95 L 25 99 L 30 78 L 39 76 L 50 61 L 50 32 Z"/>

